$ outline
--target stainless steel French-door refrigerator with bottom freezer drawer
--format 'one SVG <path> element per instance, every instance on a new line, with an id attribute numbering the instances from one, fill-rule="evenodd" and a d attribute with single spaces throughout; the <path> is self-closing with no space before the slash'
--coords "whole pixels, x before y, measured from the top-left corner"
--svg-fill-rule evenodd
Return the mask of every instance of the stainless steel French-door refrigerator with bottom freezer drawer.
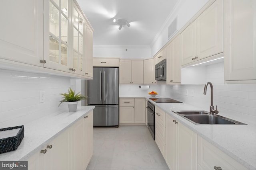
<path id="1" fill-rule="evenodd" d="M 95 106 L 93 125 L 118 127 L 118 68 L 93 67 L 93 80 L 88 80 L 87 89 L 88 106 Z"/>

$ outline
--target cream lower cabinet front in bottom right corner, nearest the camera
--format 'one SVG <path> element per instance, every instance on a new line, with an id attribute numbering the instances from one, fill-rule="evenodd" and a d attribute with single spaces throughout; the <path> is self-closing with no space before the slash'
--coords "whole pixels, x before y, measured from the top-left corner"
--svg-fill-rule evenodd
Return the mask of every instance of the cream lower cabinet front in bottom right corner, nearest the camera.
<path id="1" fill-rule="evenodd" d="M 236 160 L 198 136 L 198 170 L 247 170 Z"/>

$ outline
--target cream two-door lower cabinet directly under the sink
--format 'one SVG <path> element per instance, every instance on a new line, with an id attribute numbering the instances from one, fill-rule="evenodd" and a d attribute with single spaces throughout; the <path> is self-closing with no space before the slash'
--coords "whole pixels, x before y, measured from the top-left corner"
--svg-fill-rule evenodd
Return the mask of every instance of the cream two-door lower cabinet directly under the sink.
<path id="1" fill-rule="evenodd" d="M 166 113 L 166 163 L 170 170 L 196 170 L 197 134 Z"/>

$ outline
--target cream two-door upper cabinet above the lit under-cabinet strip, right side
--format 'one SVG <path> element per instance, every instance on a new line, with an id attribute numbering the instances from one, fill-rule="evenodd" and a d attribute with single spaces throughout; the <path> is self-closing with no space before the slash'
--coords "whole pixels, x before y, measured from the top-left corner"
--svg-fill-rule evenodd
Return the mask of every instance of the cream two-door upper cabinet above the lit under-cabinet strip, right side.
<path id="1" fill-rule="evenodd" d="M 216 0 L 182 31 L 181 65 L 224 52 L 223 22 L 223 0 Z"/>

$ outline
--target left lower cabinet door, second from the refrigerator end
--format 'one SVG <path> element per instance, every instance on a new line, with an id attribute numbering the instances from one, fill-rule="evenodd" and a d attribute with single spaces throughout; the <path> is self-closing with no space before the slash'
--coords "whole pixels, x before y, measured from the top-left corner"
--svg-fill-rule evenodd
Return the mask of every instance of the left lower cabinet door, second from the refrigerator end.
<path id="1" fill-rule="evenodd" d="M 85 169 L 84 154 L 84 119 L 80 119 L 71 127 L 72 170 Z"/>

